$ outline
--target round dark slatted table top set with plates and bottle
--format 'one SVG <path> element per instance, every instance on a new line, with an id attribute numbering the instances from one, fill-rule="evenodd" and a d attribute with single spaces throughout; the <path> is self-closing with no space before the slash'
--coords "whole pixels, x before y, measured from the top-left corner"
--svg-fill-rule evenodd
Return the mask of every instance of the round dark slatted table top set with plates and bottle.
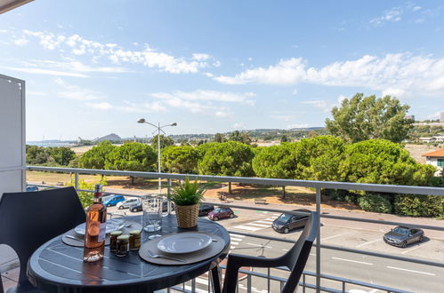
<path id="1" fill-rule="evenodd" d="M 140 217 L 128 218 L 140 220 Z M 176 218 L 162 221 L 161 233 L 170 234 L 201 231 L 216 234 L 225 241 L 221 255 L 191 265 L 154 265 L 130 251 L 126 257 L 116 257 L 105 247 L 105 257 L 95 263 L 83 261 L 83 248 L 61 242 L 61 235 L 44 243 L 28 261 L 28 279 L 46 292 L 149 292 L 165 289 L 189 281 L 206 273 L 226 257 L 230 249 L 230 235 L 222 226 L 204 218 L 191 229 L 177 228 Z"/>

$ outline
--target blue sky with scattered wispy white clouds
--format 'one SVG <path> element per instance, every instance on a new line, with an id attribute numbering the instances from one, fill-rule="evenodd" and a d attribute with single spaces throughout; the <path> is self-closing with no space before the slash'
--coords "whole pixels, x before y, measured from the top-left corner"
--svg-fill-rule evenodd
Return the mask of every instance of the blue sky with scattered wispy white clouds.
<path id="1" fill-rule="evenodd" d="M 0 15 L 27 139 L 323 126 L 356 92 L 444 111 L 441 1 L 54 1 Z"/>

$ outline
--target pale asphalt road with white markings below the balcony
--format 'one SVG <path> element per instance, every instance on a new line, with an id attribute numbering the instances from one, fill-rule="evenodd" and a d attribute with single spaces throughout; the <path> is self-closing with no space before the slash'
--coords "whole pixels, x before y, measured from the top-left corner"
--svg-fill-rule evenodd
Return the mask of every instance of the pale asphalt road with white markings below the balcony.
<path id="1" fill-rule="evenodd" d="M 109 211 L 116 210 L 109 208 Z M 117 211 L 117 210 L 116 210 Z M 240 236 L 235 232 L 248 234 L 262 234 L 287 239 L 297 239 L 300 231 L 290 234 L 278 234 L 270 227 L 274 218 L 279 214 L 258 210 L 235 209 L 236 218 L 222 219 L 219 224 L 225 226 L 231 232 L 231 252 L 251 256 L 277 257 L 291 247 L 290 243 L 274 242 L 251 236 Z M 119 213 L 133 214 L 129 210 L 118 210 Z M 359 213 L 357 217 L 365 217 L 366 213 Z M 401 221 L 401 220 L 400 220 Z M 335 219 L 321 219 L 321 243 L 347 247 L 351 249 L 363 249 L 401 257 L 420 258 L 444 263 L 444 233 L 425 230 L 425 242 L 409 245 L 407 248 L 392 247 L 383 242 L 383 234 L 390 231 L 393 226 L 380 224 L 358 223 L 353 221 L 339 221 Z M 437 221 L 440 225 L 442 222 Z M 311 251 L 311 257 L 305 270 L 315 272 L 315 249 Z M 254 272 L 267 273 L 264 269 L 254 268 Z M 395 289 L 405 289 L 414 292 L 443 292 L 444 268 L 420 265 L 415 263 L 392 260 L 382 257 L 371 257 L 362 254 L 354 254 L 340 250 L 321 249 L 321 273 L 338 276 L 341 278 L 365 281 Z M 280 270 L 272 270 L 271 274 L 285 277 L 286 273 Z M 307 278 L 314 284 L 314 278 Z M 246 280 L 239 282 L 241 291 L 246 288 Z M 206 291 L 207 281 L 199 278 L 198 288 Z M 322 281 L 322 286 L 342 289 L 342 284 L 335 281 Z M 253 278 L 254 292 L 267 292 L 266 279 Z M 363 289 L 355 285 L 348 285 L 347 290 L 361 289 L 365 292 L 376 292 L 372 289 Z M 270 292 L 279 291 L 279 282 L 270 282 Z"/>

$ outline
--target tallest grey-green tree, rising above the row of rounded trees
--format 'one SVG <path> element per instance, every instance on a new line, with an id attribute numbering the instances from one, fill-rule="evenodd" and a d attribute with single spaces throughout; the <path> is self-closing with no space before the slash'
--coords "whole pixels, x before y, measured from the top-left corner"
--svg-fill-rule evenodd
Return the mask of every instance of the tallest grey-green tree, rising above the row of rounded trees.
<path id="1" fill-rule="evenodd" d="M 385 96 L 376 98 L 358 93 L 351 99 L 343 99 L 341 107 L 332 109 L 333 120 L 327 119 L 327 130 L 348 142 L 367 139 L 387 139 L 401 142 L 407 139 L 412 120 L 406 119 L 408 105 Z"/>

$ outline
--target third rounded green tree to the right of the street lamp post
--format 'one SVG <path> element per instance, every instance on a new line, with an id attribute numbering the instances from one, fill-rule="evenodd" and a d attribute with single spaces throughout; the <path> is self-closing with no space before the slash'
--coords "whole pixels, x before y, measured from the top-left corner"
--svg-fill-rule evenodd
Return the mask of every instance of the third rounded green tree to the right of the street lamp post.
<path id="1" fill-rule="evenodd" d="M 294 146 L 283 144 L 262 148 L 260 152 L 255 154 L 252 162 L 256 176 L 262 178 L 294 178 L 296 169 L 296 162 L 292 155 Z M 282 186 L 282 194 L 286 198 L 286 186 Z"/>

